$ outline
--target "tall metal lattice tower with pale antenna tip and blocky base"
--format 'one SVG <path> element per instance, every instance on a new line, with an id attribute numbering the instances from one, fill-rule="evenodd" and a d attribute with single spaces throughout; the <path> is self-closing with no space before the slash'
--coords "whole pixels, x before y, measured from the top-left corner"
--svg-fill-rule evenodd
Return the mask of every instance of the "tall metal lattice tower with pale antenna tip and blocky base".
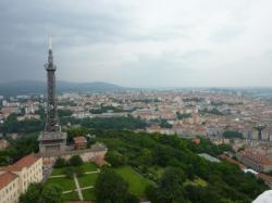
<path id="1" fill-rule="evenodd" d="M 58 154 L 66 149 L 66 135 L 61 131 L 58 123 L 58 111 L 55 100 L 55 69 L 53 64 L 52 41 L 49 38 L 47 71 L 47 120 L 46 128 L 39 136 L 40 154 Z"/>

